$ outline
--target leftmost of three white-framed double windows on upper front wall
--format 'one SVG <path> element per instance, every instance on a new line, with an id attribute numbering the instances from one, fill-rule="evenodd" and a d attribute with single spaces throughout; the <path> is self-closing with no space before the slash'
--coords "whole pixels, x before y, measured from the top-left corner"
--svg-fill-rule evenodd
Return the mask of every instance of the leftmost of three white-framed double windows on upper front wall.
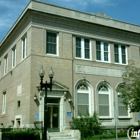
<path id="1" fill-rule="evenodd" d="M 90 40 L 76 37 L 76 57 L 90 59 Z"/>

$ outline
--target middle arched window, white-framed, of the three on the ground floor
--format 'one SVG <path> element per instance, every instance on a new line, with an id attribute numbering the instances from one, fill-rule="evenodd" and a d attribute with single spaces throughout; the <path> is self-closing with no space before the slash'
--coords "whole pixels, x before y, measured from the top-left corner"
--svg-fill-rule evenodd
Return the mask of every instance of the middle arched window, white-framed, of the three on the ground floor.
<path id="1" fill-rule="evenodd" d="M 98 109 L 100 117 L 110 117 L 110 89 L 104 83 L 98 87 Z"/>

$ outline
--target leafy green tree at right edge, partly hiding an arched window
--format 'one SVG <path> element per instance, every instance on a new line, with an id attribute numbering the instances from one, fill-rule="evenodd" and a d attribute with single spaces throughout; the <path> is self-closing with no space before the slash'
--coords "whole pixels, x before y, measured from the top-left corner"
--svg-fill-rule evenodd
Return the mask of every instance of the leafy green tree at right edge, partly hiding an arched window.
<path id="1" fill-rule="evenodd" d="M 118 86 L 117 92 L 123 98 L 123 103 L 130 112 L 140 111 L 140 68 L 135 66 L 134 61 L 129 60 L 122 75 L 123 83 Z"/>

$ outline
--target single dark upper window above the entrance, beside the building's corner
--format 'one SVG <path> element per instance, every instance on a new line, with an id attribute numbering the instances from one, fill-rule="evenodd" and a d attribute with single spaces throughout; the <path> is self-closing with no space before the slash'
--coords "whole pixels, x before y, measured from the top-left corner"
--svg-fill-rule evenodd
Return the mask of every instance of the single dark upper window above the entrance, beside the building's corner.
<path id="1" fill-rule="evenodd" d="M 57 34 L 47 32 L 46 53 L 57 55 Z"/>

